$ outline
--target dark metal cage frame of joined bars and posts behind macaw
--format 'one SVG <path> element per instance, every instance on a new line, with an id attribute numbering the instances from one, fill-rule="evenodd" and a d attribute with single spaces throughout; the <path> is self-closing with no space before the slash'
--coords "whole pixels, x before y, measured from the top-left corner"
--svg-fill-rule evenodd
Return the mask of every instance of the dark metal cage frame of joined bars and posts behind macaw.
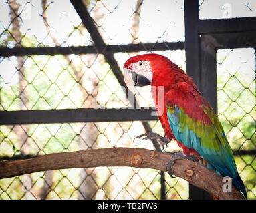
<path id="1" fill-rule="evenodd" d="M 114 53 L 184 49 L 186 51 L 186 73 L 193 78 L 197 87 L 199 87 L 207 101 L 209 101 L 215 112 L 217 112 L 217 50 L 240 47 L 256 48 L 256 17 L 200 20 L 198 0 L 184 0 L 184 42 L 128 45 L 106 45 L 82 0 L 71 0 L 71 3 L 80 16 L 84 27 L 88 29 L 92 41 L 94 41 L 93 46 L 1 47 L 0 56 L 102 54 L 109 63 L 120 85 L 127 89 L 121 69 L 114 59 Z M 78 108 L 66 110 L 0 111 L 0 125 L 149 121 L 157 120 L 156 117 L 151 116 L 151 112 L 154 110 L 154 108 L 142 108 L 140 110 L 129 108 L 121 108 L 119 110 L 108 108 L 100 108 L 98 110 Z M 249 154 L 256 154 L 256 151 L 253 153 L 250 152 Z M 189 187 L 190 199 L 209 198 L 205 192 L 195 186 L 190 185 Z M 164 199 L 164 188 L 162 188 L 161 195 L 162 199 Z"/>

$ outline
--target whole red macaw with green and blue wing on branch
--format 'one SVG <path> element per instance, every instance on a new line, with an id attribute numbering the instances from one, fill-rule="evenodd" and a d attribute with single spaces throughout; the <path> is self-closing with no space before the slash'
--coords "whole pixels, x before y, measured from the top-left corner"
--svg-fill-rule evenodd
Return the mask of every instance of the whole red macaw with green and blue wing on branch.
<path id="1" fill-rule="evenodd" d="M 217 115 L 178 65 L 158 54 L 137 55 L 124 63 L 124 81 L 128 88 L 151 85 L 165 138 L 174 138 L 185 156 L 201 157 L 207 168 L 233 178 L 234 186 L 246 198 L 245 186 Z M 160 86 L 163 101 L 158 99 Z"/>

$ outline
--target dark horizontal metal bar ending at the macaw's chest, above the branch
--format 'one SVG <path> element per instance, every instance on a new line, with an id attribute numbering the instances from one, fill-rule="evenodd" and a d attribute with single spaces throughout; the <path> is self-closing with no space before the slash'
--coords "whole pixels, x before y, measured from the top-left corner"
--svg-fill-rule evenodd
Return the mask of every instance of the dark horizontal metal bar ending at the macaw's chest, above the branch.
<path id="1" fill-rule="evenodd" d="M 62 122 L 123 122 L 158 120 L 155 108 L 80 108 L 63 110 L 0 111 L 0 125 Z"/>

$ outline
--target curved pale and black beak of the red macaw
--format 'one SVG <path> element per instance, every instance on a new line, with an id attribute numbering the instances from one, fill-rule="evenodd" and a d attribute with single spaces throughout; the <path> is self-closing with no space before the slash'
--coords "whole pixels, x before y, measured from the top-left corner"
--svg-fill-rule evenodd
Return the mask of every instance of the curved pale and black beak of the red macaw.
<path id="1" fill-rule="evenodd" d="M 152 81 L 152 73 L 144 73 L 145 75 L 138 74 L 135 71 L 132 71 L 128 68 L 124 69 L 124 81 L 127 87 L 134 87 L 134 86 L 146 86 L 150 85 Z"/>

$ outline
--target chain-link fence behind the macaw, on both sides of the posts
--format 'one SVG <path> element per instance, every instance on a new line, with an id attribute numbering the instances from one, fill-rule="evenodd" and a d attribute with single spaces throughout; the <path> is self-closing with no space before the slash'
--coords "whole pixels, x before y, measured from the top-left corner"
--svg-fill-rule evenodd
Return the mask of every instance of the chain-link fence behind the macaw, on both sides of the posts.
<path id="1" fill-rule="evenodd" d="M 183 1 L 159 4 L 140 0 L 91 0 L 84 4 L 102 41 L 115 45 L 117 51 L 112 57 L 119 67 L 134 52 L 151 51 L 166 55 L 185 69 L 184 45 L 178 46 L 184 41 Z M 109 55 L 98 52 L 98 41 L 94 40 L 96 31 L 90 33 L 84 27 L 70 1 L 6 1 L 0 5 L 0 17 L 1 47 L 21 47 L 13 56 L 0 57 L 0 110 L 130 106 Z M 124 44 L 138 43 L 142 45 L 137 51 L 124 53 Z M 156 48 L 157 43 L 164 45 Z M 174 46 L 170 47 L 170 43 Z M 75 51 L 74 47 L 79 46 L 88 47 L 88 53 L 78 53 L 81 49 Z M 27 49 L 22 47 L 31 47 L 30 52 L 24 52 Z M 62 54 L 59 51 L 55 55 L 54 47 L 67 47 L 68 50 L 61 49 Z M 240 69 L 231 69 L 228 64 L 234 60 L 228 57 L 232 53 L 235 51 L 217 53 L 218 108 L 231 147 L 239 153 L 255 150 L 255 57 L 250 52 L 251 61 L 247 62 L 246 58 L 239 61 L 247 65 L 243 68 L 245 75 L 241 75 Z M 235 55 L 240 55 L 239 50 Z M 233 89 L 233 81 L 239 84 L 239 94 Z M 136 100 L 141 107 L 154 106 L 150 87 L 142 87 Z M 152 142 L 134 138 L 148 129 L 161 135 L 164 133 L 157 120 L 147 122 L 149 128 L 140 121 L 103 121 L 104 118 L 102 122 L 1 125 L 0 160 L 94 148 L 154 150 Z M 173 152 L 179 148 L 173 142 L 165 150 Z M 249 198 L 255 198 L 255 155 L 240 153 L 236 162 Z M 188 199 L 188 182 L 152 169 L 72 168 L 2 179 L 0 198 Z"/>

